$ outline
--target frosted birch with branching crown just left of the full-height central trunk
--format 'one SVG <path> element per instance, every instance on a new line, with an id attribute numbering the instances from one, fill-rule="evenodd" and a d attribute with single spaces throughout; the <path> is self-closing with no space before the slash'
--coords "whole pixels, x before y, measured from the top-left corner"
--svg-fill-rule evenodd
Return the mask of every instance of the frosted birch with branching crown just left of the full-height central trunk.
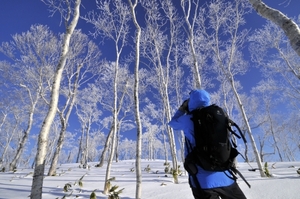
<path id="1" fill-rule="evenodd" d="M 128 6 L 121 0 L 105 0 L 96 1 L 98 14 L 91 12 L 86 21 L 95 26 L 95 36 L 101 36 L 109 38 L 114 42 L 115 47 L 115 63 L 114 63 L 114 77 L 113 77 L 113 106 L 112 106 L 112 142 L 111 142 L 111 154 L 107 164 L 104 194 L 108 194 L 110 178 L 111 163 L 115 154 L 115 139 L 117 136 L 118 126 L 118 77 L 119 77 L 119 64 L 120 56 L 123 52 L 123 48 L 127 43 L 127 34 L 129 33 L 129 19 L 130 12 Z"/>

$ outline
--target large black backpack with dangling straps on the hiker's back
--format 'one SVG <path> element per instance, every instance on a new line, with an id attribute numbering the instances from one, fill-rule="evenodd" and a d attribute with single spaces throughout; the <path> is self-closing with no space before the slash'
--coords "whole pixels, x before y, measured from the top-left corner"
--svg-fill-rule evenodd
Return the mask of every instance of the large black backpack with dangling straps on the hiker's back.
<path id="1" fill-rule="evenodd" d="M 193 110 L 191 114 L 196 147 L 193 148 L 189 157 L 204 170 L 233 171 L 245 180 L 234 165 L 234 159 L 240 153 L 236 149 L 237 146 L 232 136 L 242 138 L 246 143 L 239 126 L 228 118 L 221 107 L 215 104 Z M 231 129 L 232 126 L 239 131 L 240 135 Z M 246 180 L 245 182 L 247 183 Z"/>

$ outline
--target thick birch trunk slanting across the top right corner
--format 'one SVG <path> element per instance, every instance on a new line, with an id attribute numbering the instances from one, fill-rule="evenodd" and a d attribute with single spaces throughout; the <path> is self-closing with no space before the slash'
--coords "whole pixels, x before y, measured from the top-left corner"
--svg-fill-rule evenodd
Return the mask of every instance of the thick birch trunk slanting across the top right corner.
<path id="1" fill-rule="evenodd" d="M 282 12 L 267 6 L 261 0 L 249 0 L 249 2 L 259 15 L 272 21 L 285 32 L 292 48 L 300 56 L 299 26 Z"/>

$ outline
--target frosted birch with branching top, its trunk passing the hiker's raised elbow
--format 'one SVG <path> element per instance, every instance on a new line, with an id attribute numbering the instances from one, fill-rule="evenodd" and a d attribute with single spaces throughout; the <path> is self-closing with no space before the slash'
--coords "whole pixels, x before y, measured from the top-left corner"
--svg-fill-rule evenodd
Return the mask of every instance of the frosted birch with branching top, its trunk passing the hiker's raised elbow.
<path id="1" fill-rule="evenodd" d="M 145 3 L 146 2 L 146 3 Z M 166 12 L 167 17 L 170 21 L 169 33 L 170 39 L 169 42 L 166 42 L 165 40 L 161 39 L 161 37 L 164 35 L 163 29 L 164 27 L 161 25 L 161 22 L 163 19 L 159 16 L 159 4 L 157 2 L 154 2 L 150 0 L 148 3 L 147 1 L 143 2 L 143 7 L 146 8 L 148 11 L 146 14 L 146 24 L 148 24 L 147 27 L 147 33 L 149 34 L 151 40 L 148 41 L 149 43 L 149 49 L 153 49 L 149 55 L 146 55 L 149 57 L 150 60 L 152 60 L 152 64 L 155 66 L 155 70 L 158 76 L 158 92 L 162 100 L 163 107 L 165 109 L 165 117 L 166 121 L 171 120 L 171 108 L 170 108 L 170 100 L 169 100 L 169 77 L 170 77 L 170 68 L 171 68 L 171 52 L 173 49 L 173 43 L 175 40 L 175 32 L 176 32 L 176 26 L 175 26 L 175 16 L 176 14 L 174 11 L 174 7 L 171 4 L 171 1 L 164 1 L 166 4 L 163 7 L 163 10 Z M 171 10 L 171 11 L 170 11 Z M 162 23 L 163 24 L 163 23 Z M 163 46 L 166 46 L 165 48 Z M 146 46 L 147 48 L 148 46 Z M 164 53 L 164 50 L 166 50 L 166 55 Z M 148 53 L 147 53 L 148 54 Z M 154 61 L 153 61 L 154 60 Z M 166 64 L 163 64 L 166 63 Z M 164 66 L 165 65 L 165 66 Z M 167 127 L 167 134 L 169 137 L 169 144 L 170 144 L 170 151 L 172 156 L 172 166 L 173 166 L 173 178 L 174 183 L 178 184 L 178 162 L 177 162 L 177 154 L 176 154 L 176 144 L 175 144 L 175 138 L 174 138 L 174 132 L 169 126 Z"/>

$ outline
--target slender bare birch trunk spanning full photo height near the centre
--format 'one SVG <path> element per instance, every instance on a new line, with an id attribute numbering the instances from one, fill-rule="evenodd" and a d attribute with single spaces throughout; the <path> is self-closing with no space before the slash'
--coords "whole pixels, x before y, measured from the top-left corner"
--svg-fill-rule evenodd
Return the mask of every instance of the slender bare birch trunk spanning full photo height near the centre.
<path id="1" fill-rule="evenodd" d="M 142 156 L 142 124 L 140 120 L 140 105 L 139 105 L 139 64 L 140 64 L 140 40 L 141 40 L 141 27 L 137 21 L 136 17 L 136 6 L 138 0 L 128 0 L 131 8 L 131 14 L 133 23 L 136 27 L 135 32 L 135 68 L 134 68 L 134 101 L 135 101 L 135 119 L 137 125 L 137 138 L 136 138 L 136 192 L 135 198 L 142 198 L 142 171 L 141 171 L 141 156 Z"/>

